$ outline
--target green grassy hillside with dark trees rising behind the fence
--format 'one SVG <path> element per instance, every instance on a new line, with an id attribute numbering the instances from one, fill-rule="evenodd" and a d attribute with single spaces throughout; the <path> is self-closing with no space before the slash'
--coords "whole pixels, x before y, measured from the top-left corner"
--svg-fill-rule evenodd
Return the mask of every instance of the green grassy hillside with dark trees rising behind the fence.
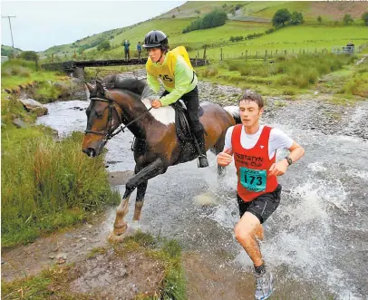
<path id="1" fill-rule="evenodd" d="M 193 20 L 208 14 L 214 8 L 225 11 L 228 14 L 227 24 L 206 30 L 199 30 L 182 34 L 182 30 Z M 264 33 L 272 27 L 270 22 L 276 10 L 287 8 L 289 11 L 300 11 L 305 17 L 305 24 L 288 26 L 273 34 L 246 40 L 237 43 L 229 41 L 230 36 L 247 36 L 248 34 Z M 265 51 L 300 51 L 305 49 L 315 50 L 332 46 L 344 45 L 352 40 L 359 45 L 367 41 L 368 27 L 363 26 L 361 15 L 368 11 L 368 5 L 364 2 L 244 2 L 244 1 L 191 1 L 180 5 L 169 12 L 152 18 L 148 21 L 133 24 L 128 27 L 111 29 L 101 34 L 93 34 L 73 44 L 54 46 L 40 53 L 41 57 L 50 57 L 51 54 L 60 59 L 71 59 L 74 52 L 77 59 L 82 58 L 121 58 L 123 49 L 121 43 L 128 39 L 131 42 L 131 56 L 135 55 L 135 45 L 143 40 L 144 35 L 152 29 L 160 29 L 169 36 L 169 44 L 176 46 L 184 44 L 188 47 L 190 55 L 197 53 L 203 55 L 204 44 L 208 44 L 210 58 L 218 58 L 220 48 L 225 55 L 241 56 L 241 53 Z M 354 23 L 344 26 L 342 19 L 344 14 L 350 14 Z M 316 18 L 322 17 L 322 24 L 318 24 Z M 97 52 L 96 48 L 102 41 L 108 40 L 111 49 Z M 82 48 L 84 56 L 78 51 Z M 301 50 L 303 51 L 303 50 Z M 226 57 L 226 56 L 225 56 Z"/>

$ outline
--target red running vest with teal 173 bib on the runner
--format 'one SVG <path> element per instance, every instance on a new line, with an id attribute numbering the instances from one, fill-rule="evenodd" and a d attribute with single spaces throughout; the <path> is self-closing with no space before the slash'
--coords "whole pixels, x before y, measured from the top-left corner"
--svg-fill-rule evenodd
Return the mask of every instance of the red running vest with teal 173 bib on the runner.
<path id="1" fill-rule="evenodd" d="M 242 124 L 234 127 L 231 144 L 237 167 L 237 194 L 245 202 L 249 202 L 277 188 L 276 176 L 268 177 L 268 169 L 276 162 L 276 152 L 270 160 L 268 141 L 271 127 L 264 126 L 256 145 L 251 149 L 245 149 L 241 146 L 242 128 Z"/>

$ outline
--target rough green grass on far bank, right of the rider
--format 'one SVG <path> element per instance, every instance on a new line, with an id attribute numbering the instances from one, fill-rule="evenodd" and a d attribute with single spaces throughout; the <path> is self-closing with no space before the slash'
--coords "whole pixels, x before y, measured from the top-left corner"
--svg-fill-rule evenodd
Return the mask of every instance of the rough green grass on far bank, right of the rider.
<path id="1" fill-rule="evenodd" d="M 262 60 L 233 60 L 222 63 L 213 63 L 206 67 L 197 68 L 199 79 L 211 82 L 233 84 L 240 88 L 251 89 L 263 95 L 284 95 L 293 100 L 299 94 L 310 93 L 310 87 L 315 86 L 320 78 L 327 73 L 348 73 L 344 66 L 353 68 L 356 59 L 348 55 L 334 54 L 305 54 L 279 56 L 275 63 Z M 361 67 L 361 73 L 353 78 L 355 82 L 362 84 L 365 80 L 365 67 Z M 340 75 L 343 76 L 343 75 Z M 336 82 L 338 80 L 326 80 Z M 362 81 L 362 78 L 364 79 Z M 356 84 L 353 82 L 352 84 Z M 333 83 L 329 83 L 333 84 Z M 364 83 L 365 84 L 365 83 Z M 358 91 L 362 91 L 365 85 L 359 85 Z M 341 84 L 339 85 L 341 87 Z"/>

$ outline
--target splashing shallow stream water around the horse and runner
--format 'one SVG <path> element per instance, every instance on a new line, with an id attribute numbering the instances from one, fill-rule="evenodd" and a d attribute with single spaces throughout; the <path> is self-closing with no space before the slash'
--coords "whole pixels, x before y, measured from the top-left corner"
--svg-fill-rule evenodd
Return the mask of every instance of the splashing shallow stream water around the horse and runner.
<path id="1" fill-rule="evenodd" d="M 87 105 L 78 101 L 49 104 L 49 115 L 38 122 L 61 135 L 83 131 Z M 359 128 L 368 120 L 368 106 L 352 109 L 356 118 L 343 118 L 333 133 L 310 126 L 318 112 L 315 102 L 296 102 L 263 118 L 303 145 L 305 157 L 279 179 L 282 201 L 266 222 L 262 252 L 279 286 L 297 286 L 295 299 L 328 294 L 336 299 L 367 299 L 368 144 Z M 106 162 L 110 171 L 133 169 L 131 140 L 131 133 L 125 132 L 109 142 Z M 277 157 L 285 155 L 286 151 L 280 151 Z M 250 273 L 252 264 L 232 233 L 238 219 L 235 168 L 230 165 L 225 179 L 218 181 L 215 156 L 208 156 L 208 169 L 197 169 L 196 161 L 191 161 L 150 180 L 140 227 L 177 238 L 185 249 L 202 256 L 216 256 L 218 267 L 226 262 L 237 277 L 236 270 Z M 123 193 L 124 186 L 118 189 Z M 134 197 L 135 193 L 129 220 Z M 112 226 L 112 210 L 107 218 Z M 102 231 L 109 222 L 103 224 Z M 289 290 L 288 295 L 293 295 L 293 288 Z"/>

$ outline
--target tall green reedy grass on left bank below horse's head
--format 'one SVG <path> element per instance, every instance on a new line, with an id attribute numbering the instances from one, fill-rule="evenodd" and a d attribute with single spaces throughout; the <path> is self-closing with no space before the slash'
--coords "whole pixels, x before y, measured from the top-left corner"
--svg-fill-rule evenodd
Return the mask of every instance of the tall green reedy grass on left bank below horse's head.
<path id="1" fill-rule="evenodd" d="M 33 241 L 120 200 L 111 191 L 103 156 L 81 150 L 82 134 L 60 142 L 49 129 L 2 132 L 2 247 Z"/>

